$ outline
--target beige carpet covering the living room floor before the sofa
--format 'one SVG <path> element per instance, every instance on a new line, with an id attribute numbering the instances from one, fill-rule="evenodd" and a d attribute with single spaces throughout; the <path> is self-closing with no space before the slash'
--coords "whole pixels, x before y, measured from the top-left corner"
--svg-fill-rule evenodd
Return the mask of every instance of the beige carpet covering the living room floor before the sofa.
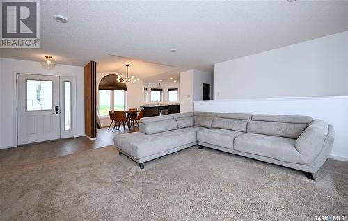
<path id="1" fill-rule="evenodd" d="M 348 163 L 326 177 L 212 149 L 145 169 L 113 147 L 0 169 L 0 220 L 314 220 L 348 215 Z"/>

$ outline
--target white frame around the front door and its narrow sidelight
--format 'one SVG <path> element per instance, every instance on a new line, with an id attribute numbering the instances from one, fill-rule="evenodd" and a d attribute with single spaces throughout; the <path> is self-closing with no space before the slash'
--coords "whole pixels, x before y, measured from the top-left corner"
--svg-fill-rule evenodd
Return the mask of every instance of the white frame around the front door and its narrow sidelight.
<path id="1" fill-rule="evenodd" d="M 13 115 L 13 122 L 14 125 L 13 126 L 13 147 L 17 147 L 18 146 L 18 140 L 17 140 L 17 136 L 18 136 L 18 120 L 17 120 L 17 74 L 33 74 L 33 75 L 47 75 L 47 76 L 59 76 L 59 78 L 61 79 L 61 83 L 62 84 L 62 79 L 65 79 L 65 77 L 67 79 L 70 79 L 72 81 L 72 134 L 73 137 L 76 137 L 76 77 L 72 76 L 72 75 L 59 75 L 57 73 L 33 73 L 33 72 L 18 72 L 18 71 L 14 71 L 13 75 L 12 75 L 12 80 L 13 80 L 13 111 L 15 112 L 15 114 Z M 61 89 L 61 85 L 60 85 L 60 89 Z M 60 90 L 60 103 L 62 101 L 62 91 Z M 63 115 L 61 115 L 61 117 L 63 117 Z M 61 121 L 60 121 L 61 122 Z M 61 133 L 61 139 L 64 138 L 62 137 L 62 133 Z"/>

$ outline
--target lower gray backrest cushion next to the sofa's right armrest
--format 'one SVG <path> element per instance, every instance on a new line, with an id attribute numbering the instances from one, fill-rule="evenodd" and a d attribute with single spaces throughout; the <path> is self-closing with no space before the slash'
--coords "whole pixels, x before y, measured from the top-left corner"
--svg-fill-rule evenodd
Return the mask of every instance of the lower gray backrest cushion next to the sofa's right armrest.
<path id="1" fill-rule="evenodd" d="M 307 126 L 308 124 L 250 120 L 246 131 L 247 133 L 260 133 L 297 139 Z"/>

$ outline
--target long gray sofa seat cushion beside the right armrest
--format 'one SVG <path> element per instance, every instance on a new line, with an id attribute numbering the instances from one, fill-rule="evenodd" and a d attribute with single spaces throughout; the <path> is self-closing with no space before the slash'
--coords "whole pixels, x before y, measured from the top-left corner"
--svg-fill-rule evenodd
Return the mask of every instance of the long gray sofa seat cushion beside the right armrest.
<path id="1" fill-rule="evenodd" d="M 305 164 L 295 148 L 296 140 L 277 136 L 245 133 L 235 139 L 234 149 L 240 152 L 274 158 L 289 163 Z"/>

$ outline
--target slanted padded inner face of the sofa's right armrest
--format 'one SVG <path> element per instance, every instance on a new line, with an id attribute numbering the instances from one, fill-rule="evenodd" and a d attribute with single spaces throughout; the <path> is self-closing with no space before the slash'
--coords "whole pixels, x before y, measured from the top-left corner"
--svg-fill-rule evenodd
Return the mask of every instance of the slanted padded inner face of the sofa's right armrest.
<path id="1" fill-rule="evenodd" d="M 313 120 L 295 142 L 297 151 L 308 165 L 322 152 L 329 126 L 323 120 Z"/>

